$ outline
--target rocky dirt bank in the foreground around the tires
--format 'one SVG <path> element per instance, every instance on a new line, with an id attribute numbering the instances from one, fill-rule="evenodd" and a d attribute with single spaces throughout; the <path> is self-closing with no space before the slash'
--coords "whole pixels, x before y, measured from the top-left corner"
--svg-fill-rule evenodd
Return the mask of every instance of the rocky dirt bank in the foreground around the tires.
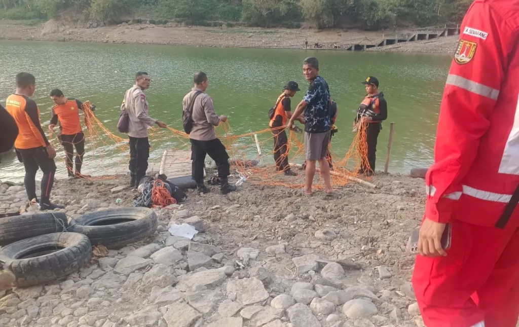
<path id="1" fill-rule="evenodd" d="M 126 182 L 122 176 L 61 180 L 52 198 L 65 205 L 73 219 L 89 210 L 131 206 L 134 190 L 111 193 Z M 228 196 L 214 187 L 203 197 L 189 192 L 181 208 L 156 209 L 161 225 L 148 239 L 93 258 L 66 279 L 0 293 L 0 325 L 421 326 L 409 283 L 414 255 L 406 253 L 405 246 L 424 211 L 424 182 L 403 175 L 376 176 L 371 182 L 379 188 L 349 184 L 335 197 L 308 197 L 249 182 Z M 25 203 L 23 188 L 9 185 L 0 186 L 0 212 Z M 115 204 L 117 198 L 122 199 L 120 205 Z M 87 209 L 80 209 L 89 199 L 99 200 L 95 208 L 90 201 Z M 165 231 L 169 224 L 195 215 L 204 232 L 192 245 Z M 223 255 L 207 257 L 200 268 L 192 269 L 190 256 L 201 253 L 187 249 L 195 246 L 211 252 L 208 255 Z M 145 259 L 155 251 L 182 258 L 174 262 L 157 252 L 134 271 L 121 273 L 119 262 L 143 262 L 132 253 L 140 247 L 145 247 L 138 252 Z M 241 267 L 243 253 L 250 260 Z M 336 264 L 323 268 L 315 255 L 356 263 L 361 269 Z M 313 291 L 296 291 L 300 288 Z M 354 308 L 350 300 L 357 304 Z"/>

